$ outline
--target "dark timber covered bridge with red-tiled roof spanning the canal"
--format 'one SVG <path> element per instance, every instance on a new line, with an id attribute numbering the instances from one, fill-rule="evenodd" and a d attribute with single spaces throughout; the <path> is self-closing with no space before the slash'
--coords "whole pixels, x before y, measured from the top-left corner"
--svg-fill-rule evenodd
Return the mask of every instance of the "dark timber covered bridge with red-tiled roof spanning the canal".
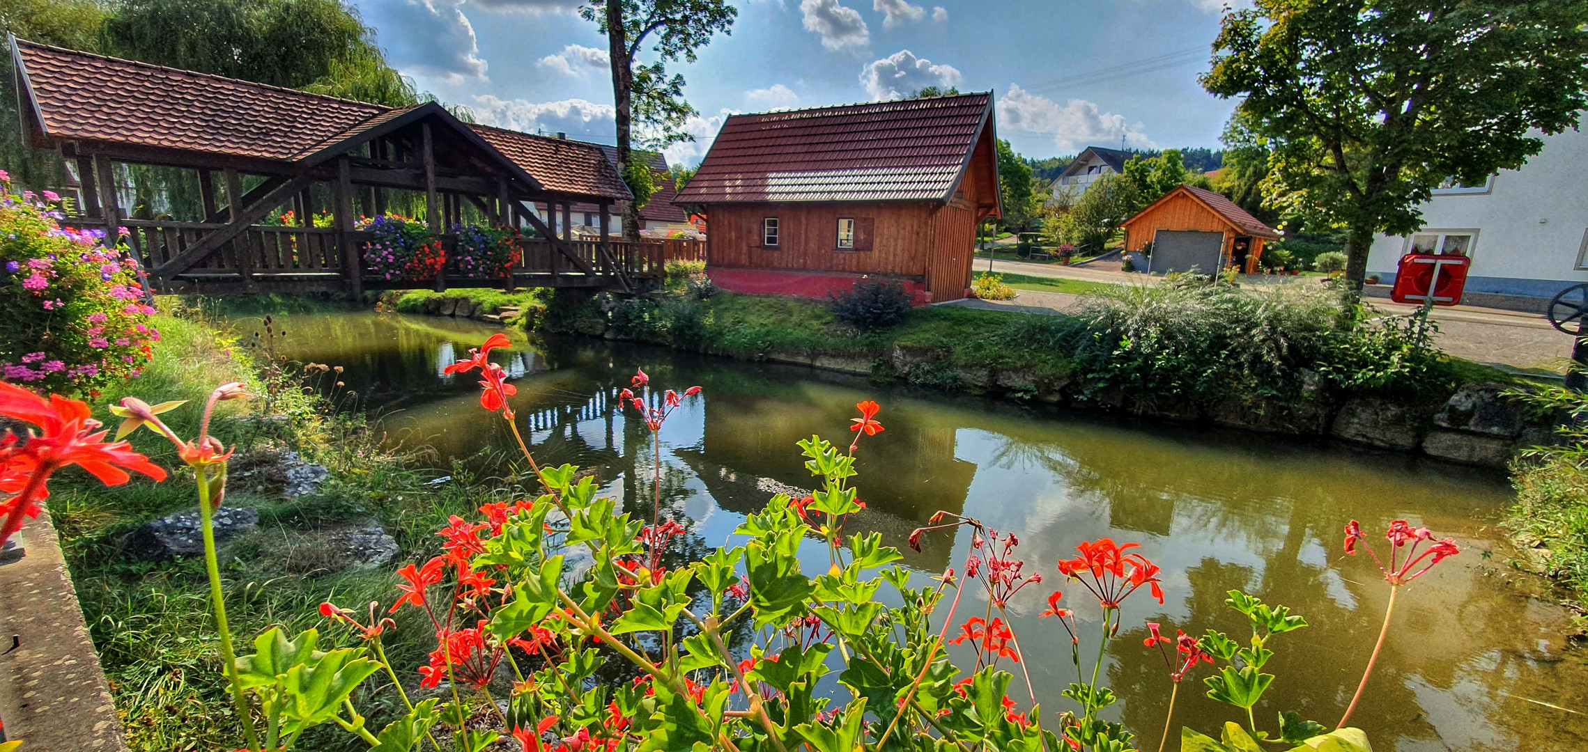
<path id="1" fill-rule="evenodd" d="M 76 182 L 78 214 L 65 224 L 127 228 L 159 292 L 632 292 L 676 246 L 607 236 L 605 217 L 630 194 L 596 144 L 467 124 L 434 102 L 394 109 L 14 36 L 10 46 L 27 138 L 59 149 Z M 122 165 L 195 171 L 202 217 L 129 217 Z M 451 254 L 432 278 L 376 276 L 364 260 L 372 233 L 357 222 L 394 203 L 445 249 L 465 217 L 518 227 L 519 260 L 492 278 L 465 274 Z M 600 240 L 567 235 L 575 203 L 600 208 Z"/>

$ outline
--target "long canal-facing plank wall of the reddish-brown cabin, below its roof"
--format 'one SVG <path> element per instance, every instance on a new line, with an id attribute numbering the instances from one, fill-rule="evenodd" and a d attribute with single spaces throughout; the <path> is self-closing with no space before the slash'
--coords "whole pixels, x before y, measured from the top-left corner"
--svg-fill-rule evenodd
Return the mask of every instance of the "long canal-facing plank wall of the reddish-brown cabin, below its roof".
<path id="1" fill-rule="evenodd" d="M 710 208 L 711 267 L 926 276 L 932 203 L 765 203 Z M 778 246 L 761 246 L 761 221 L 778 217 Z M 838 251 L 838 217 L 875 222 L 870 251 Z M 967 233 L 970 225 L 967 221 Z"/>

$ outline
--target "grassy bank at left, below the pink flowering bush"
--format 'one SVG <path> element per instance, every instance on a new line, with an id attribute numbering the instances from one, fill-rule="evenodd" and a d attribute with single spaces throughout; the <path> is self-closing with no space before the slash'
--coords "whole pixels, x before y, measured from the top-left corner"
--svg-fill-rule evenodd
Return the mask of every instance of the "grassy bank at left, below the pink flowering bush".
<path id="1" fill-rule="evenodd" d="M 260 516 L 259 530 L 232 543 L 222 558 L 227 611 L 240 652 L 252 652 L 254 635 L 268 627 L 294 633 L 308 627 L 324 630 L 318 606 L 326 600 L 354 611 L 364 611 L 372 600 L 391 603 L 391 571 L 340 570 L 346 562 L 327 549 L 324 531 L 381 524 L 403 547 L 403 558 L 413 558 L 438 547 L 430 533 L 448 514 L 478 506 L 467 478 L 464 484 L 426 485 L 435 473 L 416 471 L 410 457 L 383 451 L 360 417 L 329 416 L 318 398 L 303 393 L 295 376 L 260 368 L 265 363 L 192 313 L 160 316 L 157 327 L 164 341 L 154 362 L 124 390 L 97 400 L 95 414 L 110 419 L 105 406 L 122 393 L 151 403 L 189 400 L 162 417 L 179 435 L 192 436 L 203 398 L 216 384 L 243 381 L 256 395 L 222 403 L 211 427 L 238 452 L 227 506 L 252 506 Z M 276 374 L 262 379 L 260 373 Z M 138 451 L 172 470 L 172 478 L 154 484 L 138 476 L 129 485 L 106 490 L 70 471 L 52 484 L 49 508 L 78 598 L 132 749 L 237 749 L 241 739 L 224 693 L 202 558 L 143 562 L 124 549 L 125 535 L 143 522 L 195 509 L 192 473 L 152 433 L 138 432 L 132 439 Z M 272 485 L 268 473 L 241 474 L 249 466 L 268 468 L 265 460 L 289 449 L 330 470 L 319 493 L 287 500 Z M 399 665 L 418 663 L 429 639 L 426 630 L 427 625 L 400 623 L 402 633 L 391 641 Z M 345 636 L 337 633 L 335 639 Z M 394 693 L 380 682 L 370 687 L 372 708 L 394 701 Z M 324 738 L 305 739 L 303 747 L 364 749 L 357 738 L 340 730 L 321 731 Z"/>

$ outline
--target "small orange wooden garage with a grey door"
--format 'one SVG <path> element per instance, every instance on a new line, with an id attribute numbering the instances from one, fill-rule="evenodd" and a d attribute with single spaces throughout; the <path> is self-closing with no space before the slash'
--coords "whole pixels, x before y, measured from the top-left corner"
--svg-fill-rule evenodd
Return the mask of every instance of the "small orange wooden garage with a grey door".
<path id="1" fill-rule="evenodd" d="M 1153 244 L 1148 271 L 1216 274 L 1237 268 L 1258 271 L 1262 246 L 1280 233 L 1235 201 L 1207 189 L 1178 186 L 1124 221 L 1124 251 Z"/>

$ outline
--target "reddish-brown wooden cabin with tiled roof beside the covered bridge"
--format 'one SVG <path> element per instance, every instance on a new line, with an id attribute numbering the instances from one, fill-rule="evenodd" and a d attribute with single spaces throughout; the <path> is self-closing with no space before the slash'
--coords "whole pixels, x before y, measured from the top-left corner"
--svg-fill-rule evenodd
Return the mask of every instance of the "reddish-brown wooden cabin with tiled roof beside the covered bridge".
<path id="1" fill-rule="evenodd" d="M 1000 216 L 992 95 L 737 114 L 678 192 L 710 224 L 723 289 L 827 297 L 899 279 L 966 297 L 975 228 Z"/>

